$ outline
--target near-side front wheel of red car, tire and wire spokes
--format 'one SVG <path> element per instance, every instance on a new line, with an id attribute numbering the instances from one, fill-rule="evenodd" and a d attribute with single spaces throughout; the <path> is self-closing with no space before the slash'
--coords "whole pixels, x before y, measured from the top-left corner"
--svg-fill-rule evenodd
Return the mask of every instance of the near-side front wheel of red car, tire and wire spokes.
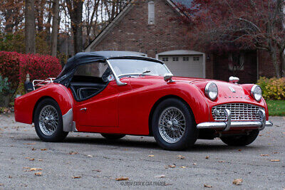
<path id="1" fill-rule="evenodd" d="M 163 100 L 152 116 L 152 132 L 163 149 L 181 150 L 197 140 L 197 127 L 187 105 L 175 98 Z"/>

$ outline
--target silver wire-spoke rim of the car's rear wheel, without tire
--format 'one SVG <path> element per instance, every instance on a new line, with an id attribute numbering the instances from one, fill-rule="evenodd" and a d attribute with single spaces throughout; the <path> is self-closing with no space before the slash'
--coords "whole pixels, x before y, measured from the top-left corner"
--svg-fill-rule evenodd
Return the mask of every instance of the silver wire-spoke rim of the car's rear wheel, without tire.
<path id="1" fill-rule="evenodd" d="M 41 132 L 47 136 L 51 136 L 58 127 L 58 112 L 52 105 L 46 105 L 41 109 L 38 125 Z"/>

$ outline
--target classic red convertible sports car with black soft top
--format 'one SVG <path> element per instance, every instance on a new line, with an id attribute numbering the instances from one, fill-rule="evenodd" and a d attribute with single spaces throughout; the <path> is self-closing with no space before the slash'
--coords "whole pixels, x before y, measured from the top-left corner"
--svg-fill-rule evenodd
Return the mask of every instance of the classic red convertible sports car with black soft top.
<path id="1" fill-rule="evenodd" d="M 15 119 L 34 122 L 46 142 L 98 132 L 153 136 L 170 150 L 214 137 L 244 146 L 272 123 L 261 88 L 229 80 L 172 77 L 162 61 L 127 52 L 78 53 L 55 80 L 27 85 L 33 90 L 15 99 Z"/>

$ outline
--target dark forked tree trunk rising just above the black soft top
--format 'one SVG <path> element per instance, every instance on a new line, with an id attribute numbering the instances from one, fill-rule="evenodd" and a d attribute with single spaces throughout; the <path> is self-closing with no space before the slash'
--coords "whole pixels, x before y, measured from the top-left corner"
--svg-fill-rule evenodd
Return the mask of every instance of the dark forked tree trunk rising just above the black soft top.
<path id="1" fill-rule="evenodd" d="M 71 29 L 73 32 L 73 49 L 74 53 L 83 51 L 83 36 L 82 36 L 82 0 L 66 0 L 66 6 L 71 18 Z"/>

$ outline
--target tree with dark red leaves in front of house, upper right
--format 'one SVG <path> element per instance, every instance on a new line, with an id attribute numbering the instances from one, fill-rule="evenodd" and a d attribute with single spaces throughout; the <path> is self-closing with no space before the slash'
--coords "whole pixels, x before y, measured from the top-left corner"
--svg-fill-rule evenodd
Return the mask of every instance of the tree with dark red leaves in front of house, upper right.
<path id="1" fill-rule="evenodd" d="M 187 14 L 180 21 L 190 24 L 193 46 L 267 51 L 280 78 L 285 76 L 284 7 L 284 0 L 194 0 L 190 8 L 180 5 Z"/>

